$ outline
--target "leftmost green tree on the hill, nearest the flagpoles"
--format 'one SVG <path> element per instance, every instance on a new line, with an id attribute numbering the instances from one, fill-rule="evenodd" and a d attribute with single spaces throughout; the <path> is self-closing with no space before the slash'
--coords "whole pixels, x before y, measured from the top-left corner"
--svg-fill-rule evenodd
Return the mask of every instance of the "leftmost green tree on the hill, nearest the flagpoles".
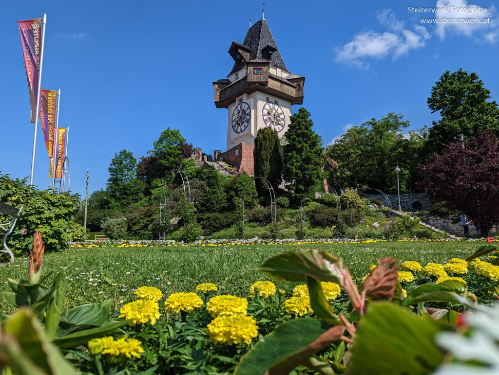
<path id="1" fill-rule="evenodd" d="M 124 208 L 144 198 L 144 183 L 137 178 L 137 159 L 128 150 L 121 150 L 111 159 L 107 191 L 111 206 Z"/>

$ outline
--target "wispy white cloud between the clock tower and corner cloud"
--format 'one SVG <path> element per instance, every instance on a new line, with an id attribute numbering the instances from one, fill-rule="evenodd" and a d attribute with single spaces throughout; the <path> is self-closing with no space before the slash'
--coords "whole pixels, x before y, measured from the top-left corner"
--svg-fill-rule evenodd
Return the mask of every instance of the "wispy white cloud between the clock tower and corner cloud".
<path id="1" fill-rule="evenodd" d="M 336 51 L 336 61 L 360 68 L 369 68 L 364 60 L 381 59 L 392 56 L 393 59 L 407 54 L 412 49 L 425 46 L 430 33 L 422 25 L 416 25 L 414 31 L 405 27 L 404 21 L 398 21 L 391 9 L 377 13 L 378 22 L 388 31 L 367 30 L 353 37 Z"/>

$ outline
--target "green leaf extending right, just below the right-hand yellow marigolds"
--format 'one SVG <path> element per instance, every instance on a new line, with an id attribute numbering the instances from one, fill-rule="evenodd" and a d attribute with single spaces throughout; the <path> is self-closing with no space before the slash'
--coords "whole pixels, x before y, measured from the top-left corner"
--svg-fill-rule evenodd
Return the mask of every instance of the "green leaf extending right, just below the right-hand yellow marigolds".
<path id="1" fill-rule="evenodd" d="M 423 284 L 410 292 L 402 301 L 404 306 L 423 302 L 460 302 L 466 285 L 457 280 L 447 280 L 440 284 Z"/>

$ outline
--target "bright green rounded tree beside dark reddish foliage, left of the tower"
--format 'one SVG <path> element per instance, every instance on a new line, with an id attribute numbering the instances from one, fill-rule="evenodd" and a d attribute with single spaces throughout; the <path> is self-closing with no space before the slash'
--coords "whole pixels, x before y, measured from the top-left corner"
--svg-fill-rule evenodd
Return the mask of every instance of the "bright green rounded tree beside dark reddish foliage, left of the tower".
<path id="1" fill-rule="evenodd" d="M 180 130 L 168 126 L 161 132 L 158 140 L 153 142 L 154 149 L 150 153 L 156 156 L 167 169 L 171 169 L 182 159 L 185 142 L 186 138 L 182 136 Z"/>

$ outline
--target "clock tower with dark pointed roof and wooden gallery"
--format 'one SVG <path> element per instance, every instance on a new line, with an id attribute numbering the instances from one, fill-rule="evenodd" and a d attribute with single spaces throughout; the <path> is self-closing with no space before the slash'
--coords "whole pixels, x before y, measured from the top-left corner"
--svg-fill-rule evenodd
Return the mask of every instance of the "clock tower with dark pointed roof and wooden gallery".
<path id="1" fill-rule="evenodd" d="M 234 65 L 227 78 L 213 82 L 217 108 L 228 109 L 227 151 L 219 159 L 253 174 L 253 145 L 259 128 L 282 136 L 291 106 L 303 103 L 305 77 L 291 74 L 265 18 L 250 26 L 243 44 L 232 42 Z"/>

